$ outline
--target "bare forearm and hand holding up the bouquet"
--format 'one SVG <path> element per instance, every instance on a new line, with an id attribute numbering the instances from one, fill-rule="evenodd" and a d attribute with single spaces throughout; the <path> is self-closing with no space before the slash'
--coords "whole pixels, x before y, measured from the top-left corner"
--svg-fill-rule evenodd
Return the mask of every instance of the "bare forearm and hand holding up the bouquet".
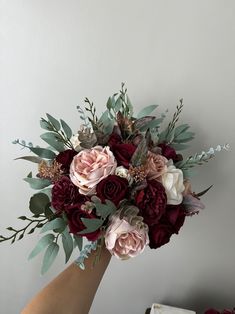
<path id="1" fill-rule="evenodd" d="M 100 261 L 93 266 L 96 252 L 85 262 L 85 270 L 74 263 L 43 288 L 21 314 L 87 314 L 111 259 L 103 247 Z"/>

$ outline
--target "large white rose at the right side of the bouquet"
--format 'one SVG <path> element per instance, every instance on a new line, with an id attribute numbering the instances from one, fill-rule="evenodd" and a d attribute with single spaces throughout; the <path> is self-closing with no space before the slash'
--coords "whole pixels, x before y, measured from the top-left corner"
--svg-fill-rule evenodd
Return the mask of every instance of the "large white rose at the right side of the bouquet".
<path id="1" fill-rule="evenodd" d="M 162 177 L 162 184 L 166 190 L 167 204 L 178 205 L 182 203 L 184 191 L 184 177 L 183 172 L 173 165 L 167 167 Z"/>

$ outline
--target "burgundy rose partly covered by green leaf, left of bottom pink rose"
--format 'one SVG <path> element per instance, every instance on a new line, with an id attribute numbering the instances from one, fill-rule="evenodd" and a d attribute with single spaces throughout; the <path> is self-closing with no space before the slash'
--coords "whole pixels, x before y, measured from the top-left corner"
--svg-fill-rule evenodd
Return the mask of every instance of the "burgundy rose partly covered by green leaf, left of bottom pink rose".
<path id="1" fill-rule="evenodd" d="M 86 229 L 81 218 L 94 219 L 97 216 L 93 213 L 88 213 L 81 209 L 81 204 L 75 204 L 67 207 L 67 218 L 69 224 L 69 231 L 73 234 L 78 234 L 80 231 Z M 91 233 L 85 233 L 81 236 L 85 236 L 89 241 L 95 241 L 100 235 L 100 230 L 96 230 Z"/>

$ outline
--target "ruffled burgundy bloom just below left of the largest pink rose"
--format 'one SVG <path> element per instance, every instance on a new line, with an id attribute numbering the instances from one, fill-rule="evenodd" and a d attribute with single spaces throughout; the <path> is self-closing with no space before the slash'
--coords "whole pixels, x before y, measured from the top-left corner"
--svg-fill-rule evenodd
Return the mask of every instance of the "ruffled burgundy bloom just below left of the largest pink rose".
<path id="1" fill-rule="evenodd" d="M 78 188 L 66 176 L 61 177 L 52 188 L 52 206 L 59 212 L 73 204 L 83 204 L 88 198 L 78 192 Z"/>

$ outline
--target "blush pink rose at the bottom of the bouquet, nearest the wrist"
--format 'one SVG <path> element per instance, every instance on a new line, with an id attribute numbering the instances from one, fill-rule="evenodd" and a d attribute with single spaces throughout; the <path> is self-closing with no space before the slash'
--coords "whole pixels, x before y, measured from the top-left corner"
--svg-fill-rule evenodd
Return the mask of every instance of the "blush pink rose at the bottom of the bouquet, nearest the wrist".
<path id="1" fill-rule="evenodd" d="M 148 227 L 144 223 L 132 226 L 119 217 L 113 217 L 105 234 L 106 248 L 122 260 L 142 253 L 148 243 Z"/>

